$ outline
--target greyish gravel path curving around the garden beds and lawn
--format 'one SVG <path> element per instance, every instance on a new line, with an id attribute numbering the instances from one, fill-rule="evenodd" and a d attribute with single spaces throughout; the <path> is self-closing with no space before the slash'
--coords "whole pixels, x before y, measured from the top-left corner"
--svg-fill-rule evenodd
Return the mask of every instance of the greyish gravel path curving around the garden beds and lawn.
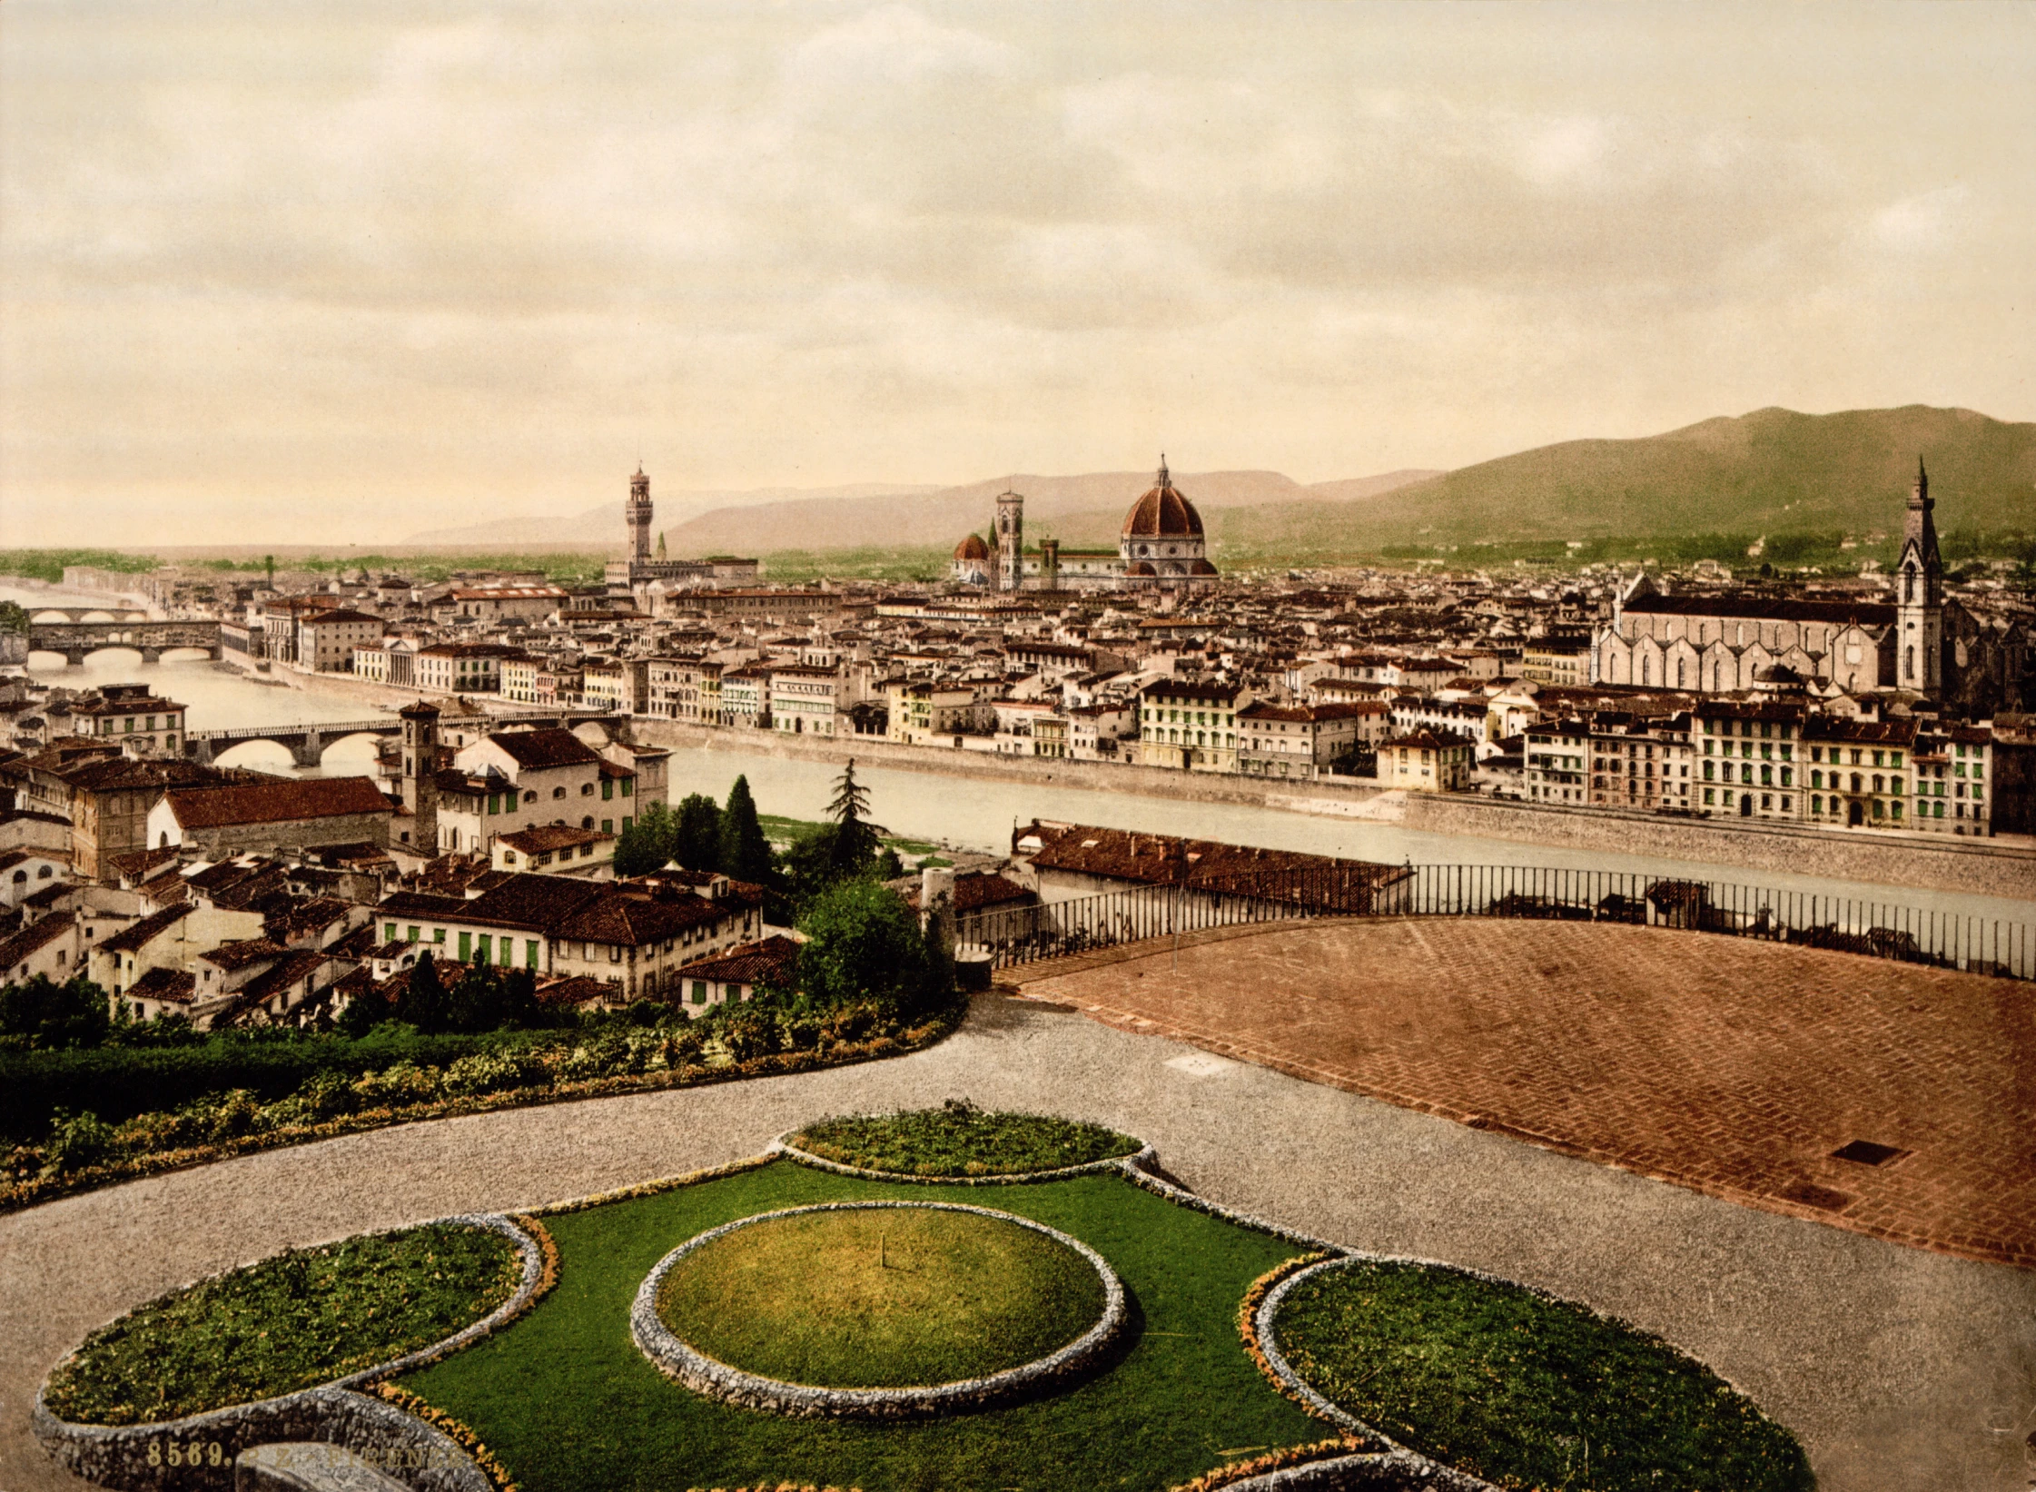
<path id="1" fill-rule="evenodd" d="M 0 1217 L 0 1492 L 83 1486 L 29 1435 L 35 1388 L 163 1288 L 285 1244 L 586 1195 L 753 1154 L 818 1113 L 957 1093 L 1138 1134 L 1234 1207 L 1623 1315 L 1802 1435 L 1824 1492 L 2030 1484 L 2036 1272 L 1749 1211 L 985 995 L 955 1038 L 892 1063 L 415 1124 Z"/>

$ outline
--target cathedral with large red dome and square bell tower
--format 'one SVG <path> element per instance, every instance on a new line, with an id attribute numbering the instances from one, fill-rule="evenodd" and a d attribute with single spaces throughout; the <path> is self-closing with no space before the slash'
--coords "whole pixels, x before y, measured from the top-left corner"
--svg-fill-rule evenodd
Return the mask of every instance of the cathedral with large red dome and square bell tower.
<path id="1" fill-rule="evenodd" d="M 971 533 L 955 546 L 953 578 L 987 590 L 1122 590 L 1136 586 L 1201 588 L 1215 582 L 1201 513 L 1173 484 L 1161 456 L 1152 486 L 1124 515 L 1116 550 L 1063 550 L 1040 539 L 1024 550 L 1024 497 L 998 497 L 994 541 Z"/>

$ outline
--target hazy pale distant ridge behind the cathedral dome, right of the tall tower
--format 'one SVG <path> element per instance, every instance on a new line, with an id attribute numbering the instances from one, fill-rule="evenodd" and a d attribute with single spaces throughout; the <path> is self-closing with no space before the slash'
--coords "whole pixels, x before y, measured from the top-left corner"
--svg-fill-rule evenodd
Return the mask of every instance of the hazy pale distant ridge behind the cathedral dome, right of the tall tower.
<path id="1" fill-rule="evenodd" d="M 1175 484 L 1205 513 L 1226 509 L 1311 507 L 1380 493 L 1431 472 L 1395 472 L 1346 482 L 1301 486 L 1281 472 L 1175 472 Z M 1124 513 L 1152 484 L 1152 472 L 1085 472 L 1040 476 L 1010 472 L 967 486 L 922 495 L 855 501 L 802 499 L 721 509 L 666 529 L 672 554 L 768 554 L 772 550 L 845 550 L 855 546 L 959 543 L 989 525 L 996 497 L 1024 493 L 1026 533 L 1053 533 L 1065 543 L 1116 543 Z M 1323 491 L 1332 489 L 1332 491 Z M 1350 489 L 1350 491 L 1344 491 Z"/>

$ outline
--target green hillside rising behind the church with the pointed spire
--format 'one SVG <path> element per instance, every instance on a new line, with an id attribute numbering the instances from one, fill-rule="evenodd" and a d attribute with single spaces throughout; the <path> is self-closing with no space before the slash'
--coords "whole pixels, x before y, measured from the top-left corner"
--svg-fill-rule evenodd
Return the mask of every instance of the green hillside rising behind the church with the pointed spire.
<path id="1" fill-rule="evenodd" d="M 1881 550 L 1900 533 L 1916 458 L 1936 521 L 1971 548 L 2036 535 L 2036 425 L 1971 409 L 1757 409 L 1645 440 L 1572 440 L 1354 503 L 1279 503 L 1209 515 L 1218 558 L 1411 556 L 1450 546 L 1590 552 L 1708 535 L 1731 552 L 1767 535 L 1796 562 Z M 1659 548 L 1659 546 L 1655 546 Z M 1946 548 L 1953 548 L 1946 537 Z"/>

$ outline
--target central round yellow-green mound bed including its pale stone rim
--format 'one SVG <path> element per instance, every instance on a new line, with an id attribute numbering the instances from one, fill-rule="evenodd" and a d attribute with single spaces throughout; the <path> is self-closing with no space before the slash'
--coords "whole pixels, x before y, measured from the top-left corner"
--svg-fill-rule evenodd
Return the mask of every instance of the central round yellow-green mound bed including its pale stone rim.
<path id="1" fill-rule="evenodd" d="M 745 1217 L 668 1254 L 637 1343 L 686 1386 L 794 1415 L 981 1407 L 1089 1366 L 1124 1290 L 1089 1246 L 953 1203 Z"/>

